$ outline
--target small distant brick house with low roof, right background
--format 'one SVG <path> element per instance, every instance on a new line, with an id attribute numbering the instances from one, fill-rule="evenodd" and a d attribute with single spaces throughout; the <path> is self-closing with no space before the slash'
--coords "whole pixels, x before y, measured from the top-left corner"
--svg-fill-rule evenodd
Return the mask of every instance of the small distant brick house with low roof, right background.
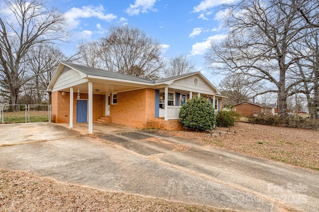
<path id="1" fill-rule="evenodd" d="M 275 107 L 266 105 L 266 104 L 259 104 L 259 103 L 252 103 L 252 102 L 241 102 L 234 105 L 236 108 L 236 112 L 239 113 L 241 116 L 257 116 L 257 115 L 274 115 L 275 114 Z"/>

